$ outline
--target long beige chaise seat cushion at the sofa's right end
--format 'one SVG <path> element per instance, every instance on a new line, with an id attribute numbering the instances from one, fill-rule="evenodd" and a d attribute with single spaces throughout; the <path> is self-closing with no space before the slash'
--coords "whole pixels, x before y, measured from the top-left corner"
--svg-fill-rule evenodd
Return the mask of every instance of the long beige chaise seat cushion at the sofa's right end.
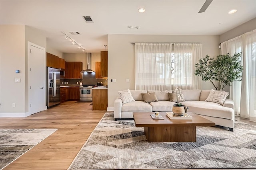
<path id="1" fill-rule="evenodd" d="M 224 119 L 234 119 L 234 109 L 221 106 L 220 104 L 204 101 L 186 101 L 188 111 L 199 115 L 218 117 Z"/>

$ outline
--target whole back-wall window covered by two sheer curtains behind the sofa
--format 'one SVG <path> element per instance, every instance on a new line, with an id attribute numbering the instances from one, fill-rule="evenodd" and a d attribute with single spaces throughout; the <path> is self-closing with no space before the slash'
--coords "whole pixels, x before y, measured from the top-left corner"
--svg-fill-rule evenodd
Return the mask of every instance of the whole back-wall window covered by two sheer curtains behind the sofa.
<path id="1" fill-rule="evenodd" d="M 170 43 L 135 44 L 135 86 L 137 90 L 166 90 L 180 86 L 193 89 L 193 48 L 172 51 Z M 179 47 L 180 44 L 177 44 Z M 184 43 L 182 43 L 184 45 Z M 189 44 L 193 46 L 194 44 Z M 200 45 L 199 50 L 202 45 Z M 198 83 L 200 84 L 200 82 Z"/>

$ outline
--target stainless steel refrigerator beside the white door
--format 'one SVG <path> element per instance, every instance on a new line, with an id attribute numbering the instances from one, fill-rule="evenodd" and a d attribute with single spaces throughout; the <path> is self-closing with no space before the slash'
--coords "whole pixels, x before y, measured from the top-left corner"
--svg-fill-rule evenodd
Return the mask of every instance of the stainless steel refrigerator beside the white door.
<path id="1" fill-rule="evenodd" d="M 60 103 L 60 69 L 47 67 L 47 108 Z"/>

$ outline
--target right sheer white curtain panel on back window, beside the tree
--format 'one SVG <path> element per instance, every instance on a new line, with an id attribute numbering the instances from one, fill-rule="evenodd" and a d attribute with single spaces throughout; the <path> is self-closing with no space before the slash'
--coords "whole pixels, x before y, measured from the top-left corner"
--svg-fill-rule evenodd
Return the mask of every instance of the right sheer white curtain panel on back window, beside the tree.
<path id="1" fill-rule="evenodd" d="M 202 80 L 195 76 L 195 64 L 202 58 L 202 44 L 174 43 L 174 86 L 201 89 Z"/>

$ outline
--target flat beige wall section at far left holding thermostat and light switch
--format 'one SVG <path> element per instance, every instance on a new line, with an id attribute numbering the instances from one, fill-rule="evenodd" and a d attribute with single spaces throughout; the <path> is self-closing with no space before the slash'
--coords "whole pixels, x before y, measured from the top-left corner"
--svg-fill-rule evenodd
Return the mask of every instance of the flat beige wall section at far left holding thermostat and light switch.
<path id="1" fill-rule="evenodd" d="M 0 113 L 25 112 L 24 39 L 24 25 L 0 25 Z M 15 78 L 21 82 L 16 83 Z"/>

